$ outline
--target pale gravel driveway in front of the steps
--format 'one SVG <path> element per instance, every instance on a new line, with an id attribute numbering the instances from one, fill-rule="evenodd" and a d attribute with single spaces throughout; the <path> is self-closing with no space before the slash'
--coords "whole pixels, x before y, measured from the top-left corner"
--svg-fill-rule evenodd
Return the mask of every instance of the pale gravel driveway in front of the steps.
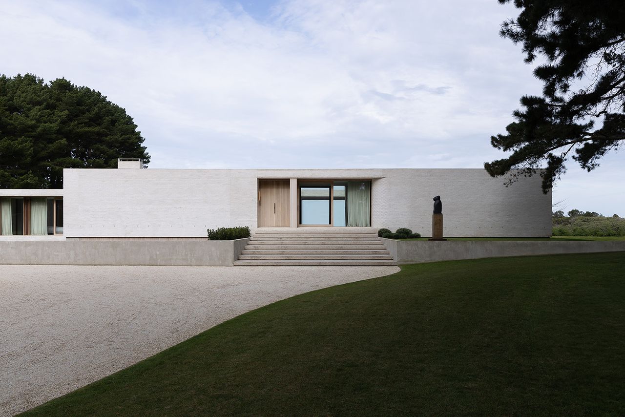
<path id="1" fill-rule="evenodd" d="M 259 306 L 396 266 L 0 265 L 0 416 Z"/>

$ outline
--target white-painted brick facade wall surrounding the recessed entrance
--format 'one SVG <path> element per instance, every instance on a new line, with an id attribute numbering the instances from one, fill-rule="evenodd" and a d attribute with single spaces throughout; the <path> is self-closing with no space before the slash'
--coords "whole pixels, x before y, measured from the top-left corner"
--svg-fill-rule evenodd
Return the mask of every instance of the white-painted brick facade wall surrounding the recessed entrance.
<path id="1" fill-rule="evenodd" d="M 549 236 L 540 178 L 509 188 L 483 169 L 65 169 L 66 237 L 206 236 L 256 228 L 258 178 L 372 179 L 372 226 L 429 235 L 441 195 L 446 236 Z"/>

